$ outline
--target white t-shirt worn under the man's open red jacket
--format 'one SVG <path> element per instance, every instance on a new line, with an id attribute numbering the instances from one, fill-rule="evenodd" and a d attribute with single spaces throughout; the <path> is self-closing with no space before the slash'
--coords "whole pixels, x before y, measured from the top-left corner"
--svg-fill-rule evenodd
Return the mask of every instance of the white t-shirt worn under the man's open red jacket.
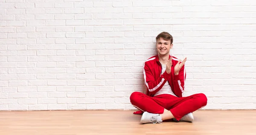
<path id="1" fill-rule="evenodd" d="M 161 72 L 161 75 L 165 72 L 166 70 L 166 65 L 162 65 L 162 72 Z M 169 85 L 169 82 L 166 81 L 166 83 L 163 85 L 162 89 L 157 91 L 157 93 L 154 94 L 154 96 L 157 96 L 157 95 L 161 95 L 161 94 L 170 94 L 170 95 L 173 95 L 173 96 L 176 96 L 173 92 L 172 92 L 172 88 L 171 86 Z M 177 96 L 176 96 L 177 97 Z"/>

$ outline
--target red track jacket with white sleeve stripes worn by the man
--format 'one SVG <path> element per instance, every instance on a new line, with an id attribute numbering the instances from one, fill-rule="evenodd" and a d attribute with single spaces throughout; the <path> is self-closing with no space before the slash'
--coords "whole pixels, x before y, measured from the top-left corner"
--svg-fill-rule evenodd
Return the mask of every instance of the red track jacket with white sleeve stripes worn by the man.
<path id="1" fill-rule="evenodd" d="M 170 58 L 171 56 L 169 56 Z M 184 82 L 186 79 L 186 70 L 183 66 L 178 75 L 174 75 L 174 67 L 179 61 L 177 58 L 172 56 L 172 68 L 171 73 L 168 74 L 166 71 L 161 75 L 162 66 L 159 62 L 158 55 L 152 56 L 143 65 L 143 75 L 145 85 L 147 87 L 146 95 L 154 96 L 163 85 L 168 81 L 173 93 L 177 97 L 182 97 L 184 91 Z"/>

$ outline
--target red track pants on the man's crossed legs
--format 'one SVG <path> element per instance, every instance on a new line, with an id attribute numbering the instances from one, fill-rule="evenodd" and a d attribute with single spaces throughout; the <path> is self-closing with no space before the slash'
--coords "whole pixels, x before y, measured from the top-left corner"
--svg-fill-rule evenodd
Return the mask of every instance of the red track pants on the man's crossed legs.
<path id="1" fill-rule="evenodd" d="M 144 93 L 134 92 L 130 100 L 132 105 L 144 112 L 162 114 L 164 109 L 170 110 L 177 120 L 207 104 L 207 97 L 203 93 L 178 98 L 169 94 L 150 97 Z"/>

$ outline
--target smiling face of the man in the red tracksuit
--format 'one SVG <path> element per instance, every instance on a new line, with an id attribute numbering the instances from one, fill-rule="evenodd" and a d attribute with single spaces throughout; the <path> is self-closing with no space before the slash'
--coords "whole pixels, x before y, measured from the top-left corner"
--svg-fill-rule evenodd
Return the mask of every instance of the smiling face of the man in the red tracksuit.
<path id="1" fill-rule="evenodd" d="M 171 40 L 166 41 L 162 37 L 157 40 L 157 52 L 160 55 L 169 55 L 172 46 Z"/>

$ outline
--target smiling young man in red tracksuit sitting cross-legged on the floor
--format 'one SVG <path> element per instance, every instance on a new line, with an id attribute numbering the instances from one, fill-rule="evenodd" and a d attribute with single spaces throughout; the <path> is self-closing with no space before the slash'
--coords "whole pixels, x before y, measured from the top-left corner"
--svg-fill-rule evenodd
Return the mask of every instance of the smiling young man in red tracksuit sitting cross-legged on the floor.
<path id="1" fill-rule="evenodd" d="M 134 114 L 143 114 L 142 123 L 155 124 L 172 118 L 192 122 L 192 112 L 206 106 L 207 97 L 203 93 L 182 97 L 186 58 L 181 62 L 170 56 L 173 37 L 168 32 L 158 34 L 156 41 L 158 54 L 143 65 L 146 94 L 134 92 L 130 96 L 131 104 L 139 109 Z"/>

